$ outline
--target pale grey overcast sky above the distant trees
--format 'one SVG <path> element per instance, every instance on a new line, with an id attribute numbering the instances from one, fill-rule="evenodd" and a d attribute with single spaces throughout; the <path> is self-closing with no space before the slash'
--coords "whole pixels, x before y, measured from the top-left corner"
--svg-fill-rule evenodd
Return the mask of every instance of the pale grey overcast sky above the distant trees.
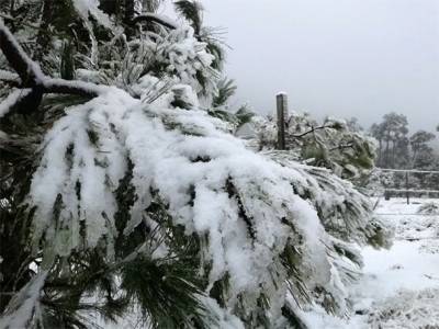
<path id="1" fill-rule="evenodd" d="M 439 123 L 439 0 L 203 0 L 205 25 L 223 26 L 237 103 L 315 116 L 407 115 Z"/>

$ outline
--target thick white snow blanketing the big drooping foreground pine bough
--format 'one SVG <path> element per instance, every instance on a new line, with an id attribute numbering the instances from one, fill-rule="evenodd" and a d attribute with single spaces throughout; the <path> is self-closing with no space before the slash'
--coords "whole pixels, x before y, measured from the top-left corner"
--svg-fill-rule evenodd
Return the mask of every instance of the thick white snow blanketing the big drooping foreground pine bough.
<path id="1" fill-rule="evenodd" d="M 112 88 L 54 124 L 30 191 L 35 246 L 67 256 L 104 242 L 112 259 L 117 236 L 143 220 L 160 225 L 144 213 L 156 191 L 173 225 L 206 237 L 209 288 L 228 276 L 228 306 L 238 295 L 256 303 L 263 292 L 280 315 L 288 290 L 299 298 L 317 287 L 344 295 L 327 254 L 330 237 L 315 206 L 294 191 L 297 171 L 246 149 L 204 111 L 172 109 L 170 100 L 145 104 Z M 128 161 L 136 197 L 117 231 L 115 191 Z"/>

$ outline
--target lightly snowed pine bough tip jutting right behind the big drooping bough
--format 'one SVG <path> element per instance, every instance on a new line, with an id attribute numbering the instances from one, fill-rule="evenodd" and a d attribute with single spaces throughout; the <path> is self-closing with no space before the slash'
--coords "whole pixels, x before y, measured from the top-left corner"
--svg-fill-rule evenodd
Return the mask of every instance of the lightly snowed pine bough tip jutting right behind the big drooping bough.
<path id="1" fill-rule="evenodd" d="M 296 193 L 313 203 L 326 231 L 333 236 L 364 245 L 376 234 L 376 226 L 383 230 L 384 236 L 392 235 L 391 229 L 379 218 L 372 218 L 371 200 L 351 182 L 331 174 L 326 168 L 301 164 L 291 152 L 263 154 L 296 172 L 292 178 Z"/>

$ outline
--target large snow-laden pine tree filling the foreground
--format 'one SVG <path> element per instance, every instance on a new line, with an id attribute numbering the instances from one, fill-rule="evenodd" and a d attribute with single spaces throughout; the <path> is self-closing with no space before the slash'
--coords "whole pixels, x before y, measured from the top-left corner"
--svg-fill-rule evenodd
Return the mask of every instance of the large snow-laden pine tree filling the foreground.
<path id="1" fill-rule="evenodd" d="M 43 2 L 12 2 L 0 23 L 0 328 L 348 314 L 351 242 L 383 228 L 350 183 L 255 154 L 203 110 L 223 55 L 201 22 L 157 1 Z"/>

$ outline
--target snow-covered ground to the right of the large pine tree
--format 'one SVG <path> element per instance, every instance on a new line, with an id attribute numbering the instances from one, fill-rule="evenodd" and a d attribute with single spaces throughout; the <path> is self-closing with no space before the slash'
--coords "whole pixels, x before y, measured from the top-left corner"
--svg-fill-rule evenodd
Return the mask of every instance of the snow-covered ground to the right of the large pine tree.
<path id="1" fill-rule="evenodd" d="M 364 275 L 351 288 L 350 319 L 318 309 L 304 314 L 312 329 L 439 328 L 439 213 L 418 214 L 439 200 L 380 200 L 375 209 L 395 227 L 390 250 L 364 248 Z"/>

